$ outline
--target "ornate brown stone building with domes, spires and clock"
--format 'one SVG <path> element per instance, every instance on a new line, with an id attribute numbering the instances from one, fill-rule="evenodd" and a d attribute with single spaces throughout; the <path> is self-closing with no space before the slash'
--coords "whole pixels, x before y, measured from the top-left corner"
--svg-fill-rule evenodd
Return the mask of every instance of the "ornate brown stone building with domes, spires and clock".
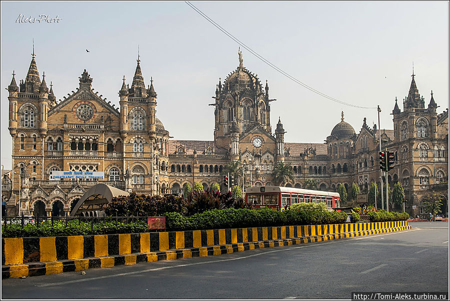
<path id="1" fill-rule="evenodd" d="M 379 182 L 379 139 L 376 125 L 363 120 L 358 133 L 344 121 L 331 130 L 325 143 L 285 142 L 280 118 L 274 134 L 270 124 L 269 85 L 244 65 L 216 86 L 214 139 L 174 140 L 156 117 L 157 94 L 151 80 L 145 86 L 138 59 L 131 87 L 123 78 L 120 107 L 92 88 L 86 69 L 79 87 L 57 101 L 38 72 L 35 54 L 25 80 L 15 74 L 8 86 L 9 129 L 13 137 L 13 181 L 5 194 L 8 215 L 20 212 L 68 215 L 71 207 L 97 180 L 50 180 L 51 172 L 102 171 L 104 182 L 127 191 L 148 194 L 179 193 L 186 183 L 210 187 L 222 183 L 228 162 L 240 160 L 253 185 L 274 185 L 271 173 L 278 162 L 293 166 L 302 187 L 306 178 L 322 190 L 339 183 L 361 190 Z M 397 154 L 389 171 L 393 185 L 401 181 L 407 211 L 418 214 L 429 189 L 446 191 L 448 177 L 448 109 L 437 114 L 431 93 L 428 107 L 418 93 L 414 75 L 400 111 L 395 99 L 393 129 L 382 130 L 381 146 Z M 245 183 L 247 185 L 247 183 Z M 413 209 L 413 205 L 417 208 Z"/>

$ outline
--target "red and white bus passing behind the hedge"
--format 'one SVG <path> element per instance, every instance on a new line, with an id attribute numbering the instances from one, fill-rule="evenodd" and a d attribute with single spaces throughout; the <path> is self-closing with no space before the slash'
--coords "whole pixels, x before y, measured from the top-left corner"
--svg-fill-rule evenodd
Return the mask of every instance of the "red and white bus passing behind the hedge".
<path id="1" fill-rule="evenodd" d="M 340 207 L 339 193 L 281 186 L 253 186 L 245 192 L 245 201 L 255 208 L 283 209 L 297 202 L 324 202 L 330 209 Z"/>

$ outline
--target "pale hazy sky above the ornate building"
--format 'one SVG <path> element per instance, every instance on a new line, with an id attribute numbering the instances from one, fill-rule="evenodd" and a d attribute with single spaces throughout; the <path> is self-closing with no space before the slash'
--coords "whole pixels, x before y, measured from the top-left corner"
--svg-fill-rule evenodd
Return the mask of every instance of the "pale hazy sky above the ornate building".
<path id="1" fill-rule="evenodd" d="M 448 107 L 448 1 L 191 2 L 245 45 L 304 84 L 292 81 L 241 46 L 244 66 L 268 80 L 272 131 L 281 118 L 285 142 L 324 142 L 345 121 L 356 133 L 363 118 L 392 129 L 395 97 L 403 110 L 414 71 L 419 93 Z M 1 20 L 1 160 L 11 169 L 8 87 L 13 70 L 25 79 L 33 52 L 57 99 L 79 86 L 87 69 L 92 86 L 119 106 L 125 75 L 131 85 L 138 47 L 146 85 L 153 84 L 157 117 L 173 139 L 213 140 L 215 95 L 239 65 L 236 41 L 184 1 L 7 2 Z M 60 18 L 21 22 L 20 16 Z M 87 52 L 89 49 L 90 52 Z M 414 69 L 414 70 L 413 70 Z"/>

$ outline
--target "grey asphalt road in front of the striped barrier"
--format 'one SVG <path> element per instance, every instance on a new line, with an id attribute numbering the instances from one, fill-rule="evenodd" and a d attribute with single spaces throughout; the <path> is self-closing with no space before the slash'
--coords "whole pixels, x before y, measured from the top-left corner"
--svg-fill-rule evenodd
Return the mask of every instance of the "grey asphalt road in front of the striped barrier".
<path id="1" fill-rule="evenodd" d="M 351 298 L 352 291 L 448 291 L 448 222 L 226 255 L 2 281 L 5 298 Z"/>

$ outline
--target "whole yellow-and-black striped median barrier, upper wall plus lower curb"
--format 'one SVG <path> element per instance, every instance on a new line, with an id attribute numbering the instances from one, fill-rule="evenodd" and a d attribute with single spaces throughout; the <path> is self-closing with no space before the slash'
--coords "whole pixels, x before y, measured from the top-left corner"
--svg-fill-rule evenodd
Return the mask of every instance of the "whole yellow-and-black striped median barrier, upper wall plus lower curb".
<path id="1" fill-rule="evenodd" d="M 2 238 L 2 278 L 211 256 L 410 229 L 407 221 Z"/>

